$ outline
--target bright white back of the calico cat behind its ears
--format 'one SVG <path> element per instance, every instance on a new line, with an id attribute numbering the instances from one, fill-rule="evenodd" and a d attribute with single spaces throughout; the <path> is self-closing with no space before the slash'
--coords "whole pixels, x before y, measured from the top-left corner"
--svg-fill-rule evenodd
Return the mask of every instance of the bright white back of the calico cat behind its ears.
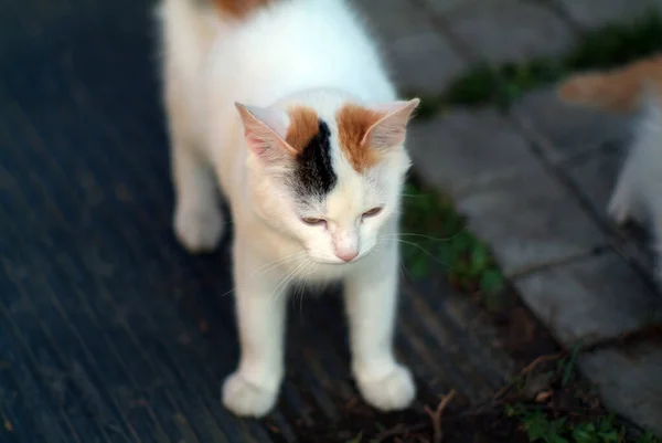
<path id="1" fill-rule="evenodd" d="M 218 84 L 233 85 L 232 99 L 268 105 L 314 87 L 393 98 L 377 44 L 346 1 L 266 3 L 218 34 L 212 72 Z"/>

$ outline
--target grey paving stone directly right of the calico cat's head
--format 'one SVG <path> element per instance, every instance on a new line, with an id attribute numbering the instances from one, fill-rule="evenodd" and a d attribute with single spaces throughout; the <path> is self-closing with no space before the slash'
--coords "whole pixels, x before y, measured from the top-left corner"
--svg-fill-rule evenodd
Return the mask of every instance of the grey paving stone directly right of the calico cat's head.
<path id="1" fill-rule="evenodd" d="M 459 109 L 416 122 L 407 147 L 417 171 L 451 196 L 476 181 L 537 162 L 527 141 L 492 108 Z"/>

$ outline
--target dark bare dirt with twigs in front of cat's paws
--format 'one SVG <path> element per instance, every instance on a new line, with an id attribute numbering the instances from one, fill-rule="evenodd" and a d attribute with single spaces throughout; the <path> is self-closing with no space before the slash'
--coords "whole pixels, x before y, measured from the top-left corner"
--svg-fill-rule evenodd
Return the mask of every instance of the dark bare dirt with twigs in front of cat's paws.
<path id="1" fill-rule="evenodd" d="M 295 433 L 306 442 L 419 442 L 488 443 L 527 442 L 522 421 L 513 412 L 528 407 L 549 419 L 570 420 L 605 415 L 599 399 L 576 377 L 564 377 L 572 356 L 558 348 L 548 331 L 521 305 L 514 293 L 501 312 L 488 317 L 496 326 L 499 341 L 521 368 L 520 376 L 483 404 L 468 404 L 449 393 L 445 399 L 424 399 L 421 410 L 382 414 L 359 397 L 344 402 L 341 423 L 314 420 L 314 428 L 295 420 Z M 476 299 L 476 303 L 480 303 Z M 565 362 L 565 366 L 562 365 Z M 273 437 L 279 430 L 269 424 Z"/>

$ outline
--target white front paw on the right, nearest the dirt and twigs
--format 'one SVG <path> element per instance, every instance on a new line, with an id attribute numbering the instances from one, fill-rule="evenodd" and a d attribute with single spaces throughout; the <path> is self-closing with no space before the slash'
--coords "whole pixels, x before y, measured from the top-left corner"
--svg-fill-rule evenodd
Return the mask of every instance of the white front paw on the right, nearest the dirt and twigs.
<path id="1" fill-rule="evenodd" d="M 387 412 L 408 408 L 416 397 L 412 372 L 402 365 L 378 380 L 361 380 L 357 384 L 363 399 L 376 409 Z"/>

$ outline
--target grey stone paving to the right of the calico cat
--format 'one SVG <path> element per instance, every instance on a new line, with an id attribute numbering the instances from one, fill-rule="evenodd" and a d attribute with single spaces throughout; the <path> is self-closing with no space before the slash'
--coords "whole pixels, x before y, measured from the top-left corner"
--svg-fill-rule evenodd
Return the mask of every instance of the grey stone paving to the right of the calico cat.
<path id="1" fill-rule="evenodd" d="M 440 93 L 471 63 L 554 56 L 597 25 L 659 0 L 357 0 L 402 91 Z M 648 243 L 606 204 L 630 139 L 628 117 L 560 103 L 553 87 L 512 108 L 446 109 L 416 122 L 415 168 L 448 192 L 494 250 L 530 308 L 566 347 L 662 319 Z M 600 347 L 579 366 L 606 403 L 662 435 L 662 347 Z"/>

